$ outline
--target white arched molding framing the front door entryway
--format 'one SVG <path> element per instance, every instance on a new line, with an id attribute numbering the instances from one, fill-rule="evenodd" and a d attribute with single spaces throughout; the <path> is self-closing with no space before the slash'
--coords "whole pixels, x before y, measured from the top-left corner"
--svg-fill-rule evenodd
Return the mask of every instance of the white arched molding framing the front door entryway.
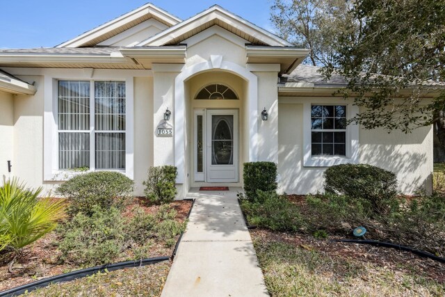
<path id="1" fill-rule="evenodd" d="M 214 67 L 211 61 L 206 61 L 184 67 L 182 72 L 175 79 L 175 166 L 178 168 L 177 184 L 184 184 L 185 180 L 185 154 L 186 140 L 184 139 L 186 126 L 186 108 L 184 83 L 191 77 L 211 70 L 230 72 L 248 82 L 248 137 L 249 137 L 249 156 L 248 161 L 257 161 L 258 159 L 258 78 L 245 67 L 236 63 L 222 61 L 219 67 Z"/>

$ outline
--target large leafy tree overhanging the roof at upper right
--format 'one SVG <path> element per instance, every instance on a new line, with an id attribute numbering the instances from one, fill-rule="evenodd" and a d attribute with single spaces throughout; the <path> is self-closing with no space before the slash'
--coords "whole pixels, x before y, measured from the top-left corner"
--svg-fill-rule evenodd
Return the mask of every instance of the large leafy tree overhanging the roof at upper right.
<path id="1" fill-rule="evenodd" d="M 340 33 L 325 74 L 348 79 L 341 93 L 365 107 L 353 120 L 405 132 L 435 122 L 445 99 L 445 1 L 357 0 L 349 14 L 358 30 Z"/>

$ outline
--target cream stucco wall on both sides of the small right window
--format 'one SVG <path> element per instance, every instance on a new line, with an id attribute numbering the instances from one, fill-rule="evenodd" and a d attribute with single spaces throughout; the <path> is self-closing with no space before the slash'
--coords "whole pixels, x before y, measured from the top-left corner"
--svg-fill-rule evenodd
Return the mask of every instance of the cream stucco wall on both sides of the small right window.
<path id="1" fill-rule="evenodd" d="M 296 194 L 323 191 L 325 168 L 303 166 L 303 105 L 279 104 L 278 109 L 280 191 Z M 403 193 L 413 194 L 420 186 L 430 189 L 432 127 L 416 129 L 412 134 L 360 129 L 359 162 L 395 172 Z"/>

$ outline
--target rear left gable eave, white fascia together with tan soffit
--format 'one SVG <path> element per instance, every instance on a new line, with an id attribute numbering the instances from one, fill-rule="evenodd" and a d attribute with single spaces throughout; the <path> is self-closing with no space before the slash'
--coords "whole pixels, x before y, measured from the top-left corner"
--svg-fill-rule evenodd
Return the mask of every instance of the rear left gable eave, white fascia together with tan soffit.
<path id="1" fill-rule="evenodd" d="M 147 3 L 56 47 L 92 47 L 151 18 L 169 27 L 181 22 L 178 17 L 154 6 L 152 3 Z"/>

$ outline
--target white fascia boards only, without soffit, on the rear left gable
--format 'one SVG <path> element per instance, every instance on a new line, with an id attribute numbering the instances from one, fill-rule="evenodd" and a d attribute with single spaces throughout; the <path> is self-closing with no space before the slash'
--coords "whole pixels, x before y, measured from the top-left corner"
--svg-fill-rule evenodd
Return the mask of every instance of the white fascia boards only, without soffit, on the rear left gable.
<path id="1" fill-rule="evenodd" d="M 77 36 L 76 38 L 63 42 L 60 45 L 57 45 L 56 47 L 81 47 L 90 40 L 93 40 L 101 35 L 104 35 L 110 31 L 119 28 L 120 26 L 124 26 L 124 24 L 133 22 L 133 20 L 148 14 L 152 14 L 156 17 L 159 17 L 159 19 L 162 19 L 167 24 L 170 24 L 170 26 L 175 26 L 175 24 L 181 22 L 181 19 L 175 17 L 174 15 L 170 15 L 170 13 L 167 13 L 165 10 L 162 10 L 161 8 L 154 6 L 152 3 L 147 3 L 144 6 L 141 6 L 140 8 L 136 8 L 135 10 L 132 10 L 129 13 L 126 13 L 118 18 L 115 18 L 110 22 L 106 22 L 105 24 L 102 24 L 101 26 L 98 26 L 95 29 L 87 31 Z"/>

